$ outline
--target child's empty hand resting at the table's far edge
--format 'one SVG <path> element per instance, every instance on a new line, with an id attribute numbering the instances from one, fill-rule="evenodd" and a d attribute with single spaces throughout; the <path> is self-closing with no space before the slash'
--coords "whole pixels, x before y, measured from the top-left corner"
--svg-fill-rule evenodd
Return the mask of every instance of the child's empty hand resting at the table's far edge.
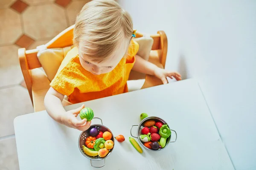
<path id="1" fill-rule="evenodd" d="M 177 72 L 167 71 L 167 70 L 162 69 L 162 68 L 155 69 L 154 70 L 154 76 L 161 79 L 163 84 L 168 83 L 166 77 L 170 77 L 171 79 L 172 79 L 172 77 L 174 77 L 177 81 L 181 80 L 181 76 Z"/>

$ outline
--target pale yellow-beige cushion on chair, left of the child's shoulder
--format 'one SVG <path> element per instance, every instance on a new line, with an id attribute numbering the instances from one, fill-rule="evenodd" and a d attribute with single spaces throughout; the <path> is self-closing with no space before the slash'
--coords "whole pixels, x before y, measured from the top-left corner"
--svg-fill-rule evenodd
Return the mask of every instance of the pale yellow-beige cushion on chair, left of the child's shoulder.
<path id="1" fill-rule="evenodd" d="M 42 68 L 45 71 L 48 79 L 52 81 L 58 68 L 61 65 L 62 60 L 66 56 L 67 52 L 73 48 L 73 46 L 68 46 L 64 48 L 42 48 L 43 45 L 39 46 L 39 52 L 37 54 L 38 60 L 40 61 Z"/>

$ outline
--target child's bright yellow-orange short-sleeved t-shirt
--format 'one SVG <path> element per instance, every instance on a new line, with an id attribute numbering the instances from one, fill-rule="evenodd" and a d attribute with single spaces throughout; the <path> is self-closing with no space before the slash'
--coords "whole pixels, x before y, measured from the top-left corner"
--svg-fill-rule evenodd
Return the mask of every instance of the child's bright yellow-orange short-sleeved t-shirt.
<path id="1" fill-rule="evenodd" d="M 78 49 L 72 48 L 63 59 L 50 86 L 67 95 L 71 103 L 128 92 L 127 80 L 138 50 L 139 44 L 131 40 L 127 56 L 121 59 L 116 68 L 106 74 L 94 75 L 81 66 Z"/>

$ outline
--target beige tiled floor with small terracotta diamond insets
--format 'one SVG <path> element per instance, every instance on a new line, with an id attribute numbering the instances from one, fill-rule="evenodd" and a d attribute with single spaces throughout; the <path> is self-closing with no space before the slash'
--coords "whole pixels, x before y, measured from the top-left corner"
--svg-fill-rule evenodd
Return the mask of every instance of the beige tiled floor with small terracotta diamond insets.
<path id="1" fill-rule="evenodd" d="M 0 0 L 0 170 L 18 170 L 13 119 L 33 112 L 18 48 L 45 44 L 75 22 L 89 0 Z"/>

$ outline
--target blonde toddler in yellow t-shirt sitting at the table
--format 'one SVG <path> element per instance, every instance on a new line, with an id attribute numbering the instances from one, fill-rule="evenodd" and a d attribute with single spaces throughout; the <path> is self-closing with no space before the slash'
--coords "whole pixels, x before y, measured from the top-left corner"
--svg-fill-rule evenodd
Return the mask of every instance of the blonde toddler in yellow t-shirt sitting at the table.
<path id="1" fill-rule="evenodd" d="M 166 77 L 180 80 L 180 74 L 158 68 L 137 55 L 139 45 L 131 16 L 114 0 L 92 0 L 76 18 L 72 48 L 50 83 L 44 105 L 55 121 L 78 130 L 87 130 L 90 122 L 78 120 L 80 108 L 65 111 L 64 95 L 79 103 L 128 92 L 131 69 L 154 75 L 167 83 Z"/>

